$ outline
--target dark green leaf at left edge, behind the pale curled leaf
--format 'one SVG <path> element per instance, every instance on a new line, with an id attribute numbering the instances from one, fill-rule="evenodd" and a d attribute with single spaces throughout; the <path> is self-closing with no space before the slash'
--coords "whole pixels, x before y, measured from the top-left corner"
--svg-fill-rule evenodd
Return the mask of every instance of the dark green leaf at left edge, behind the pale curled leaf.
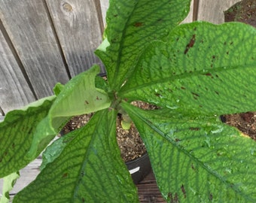
<path id="1" fill-rule="evenodd" d="M 47 116 L 55 98 L 42 98 L 22 110 L 10 111 L 0 123 L 0 177 L 29 164 L 31 160 L 24 157 L 31 147 L 38 123 Z"/>

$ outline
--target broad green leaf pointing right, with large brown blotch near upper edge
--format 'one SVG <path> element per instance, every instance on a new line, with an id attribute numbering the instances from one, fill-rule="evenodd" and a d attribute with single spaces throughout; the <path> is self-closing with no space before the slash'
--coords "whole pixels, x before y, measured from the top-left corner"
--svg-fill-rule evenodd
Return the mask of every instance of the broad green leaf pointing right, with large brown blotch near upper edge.
<path id="1" fill-rule="evenodd" d="M 254 111 L 256 29 L 242 23 L 178 26 L 145 51 L 120 96 L 183 114 Z"/>

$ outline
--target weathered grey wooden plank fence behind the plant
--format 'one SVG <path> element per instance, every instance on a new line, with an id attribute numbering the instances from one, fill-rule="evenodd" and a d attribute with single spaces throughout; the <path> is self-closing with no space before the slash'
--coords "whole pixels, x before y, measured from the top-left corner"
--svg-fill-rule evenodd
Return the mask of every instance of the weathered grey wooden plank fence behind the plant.
<path id="1" fill-rule="evenodd" d="M 236 2 L 194 0 L 184 23 L 223 23 L 223 11 Z M 100 65 L 93 52 L 107 8 L 108 0 L 0 0 L 0 116 Z"/>

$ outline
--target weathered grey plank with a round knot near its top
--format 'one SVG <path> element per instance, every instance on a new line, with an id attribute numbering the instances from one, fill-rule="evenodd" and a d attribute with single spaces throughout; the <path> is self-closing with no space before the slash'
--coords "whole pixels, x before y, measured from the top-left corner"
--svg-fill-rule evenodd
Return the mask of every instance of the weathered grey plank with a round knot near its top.
<path id="1" fill-rule="evenodd" d="M 102 41 L 99 22 L 102 19 L 98 18 L 94 1 L 46 2 L 72 77 L 93 64 L 100 64 L 94 50 Z"/>

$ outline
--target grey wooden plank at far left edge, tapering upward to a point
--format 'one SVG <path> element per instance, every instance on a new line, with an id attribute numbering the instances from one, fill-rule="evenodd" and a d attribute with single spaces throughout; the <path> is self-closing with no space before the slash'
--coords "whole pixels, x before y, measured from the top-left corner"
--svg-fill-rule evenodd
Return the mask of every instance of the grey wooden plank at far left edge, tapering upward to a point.
<path id="1" fill-rule="evenodd" d="M 7 113 L 35 101 L 35 97 L 2 31 L 0 32 L 0 57 L 0 107 Z"/>

